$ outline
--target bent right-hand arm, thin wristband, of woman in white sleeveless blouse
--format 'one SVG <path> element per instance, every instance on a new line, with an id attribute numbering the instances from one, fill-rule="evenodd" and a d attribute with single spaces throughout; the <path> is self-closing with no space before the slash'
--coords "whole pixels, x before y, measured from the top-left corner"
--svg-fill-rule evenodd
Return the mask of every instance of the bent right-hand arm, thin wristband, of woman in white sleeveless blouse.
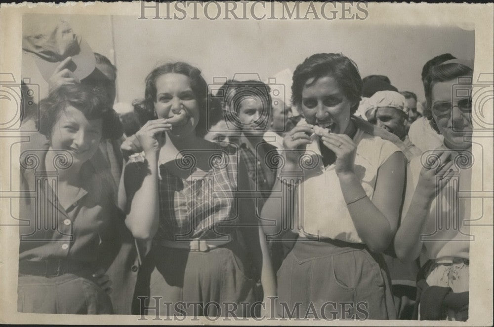
<path id="1" fill-rule="evenodd" d="M 379 167 L 374 196 L 371 201 L 355 173 L 338 175 L 343 197 L 359 236 L 372 252 L 387 249 L 398 226 L 405 183 L 406 158 L 393 153 Z"/>

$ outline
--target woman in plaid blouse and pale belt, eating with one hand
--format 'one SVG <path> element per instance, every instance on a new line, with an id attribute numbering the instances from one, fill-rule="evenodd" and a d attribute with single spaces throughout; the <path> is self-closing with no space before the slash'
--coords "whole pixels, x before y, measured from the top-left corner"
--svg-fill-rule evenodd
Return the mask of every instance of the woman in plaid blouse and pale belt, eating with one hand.
<path id="1" fill-rule="evenodd" d="M 160 315 L 222 316 L 228 309 L 249 316 L 255 308 L 240 302 L 252 302 L 256 275 L 269 296 L 274 274 L 255 206 L 234 194 L 249 190 L 243 163 L 233 147 L 199 136 L 206 92 L 201 72 L 183 62 L 147 76 L 145 99 L 135 105 L 154 118 L 123 145 L 143 152 L 125 166 L 121 206 L 134 237 L 151 241 L 140 272 L 148 306 L 159 305 Z"/>

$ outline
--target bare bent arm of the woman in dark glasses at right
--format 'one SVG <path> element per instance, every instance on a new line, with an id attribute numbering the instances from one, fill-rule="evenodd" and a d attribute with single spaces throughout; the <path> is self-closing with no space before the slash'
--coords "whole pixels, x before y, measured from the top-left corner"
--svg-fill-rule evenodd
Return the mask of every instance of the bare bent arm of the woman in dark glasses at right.
<path id="1" fill-rule="evenodd" d="M 423 167 L 416 187 L 414 187 L 412 181 L 407 185 L 403 207 L 404 218 L 402 218 L 395 238 L 395 252 L 403 262 L 413 261 L 420 255 L 423 246 L 420 235 L 424 234 L 424 227 L 429 217 L 432 201 L 436 197 L 438 187 L 441 187 L 441 185 L 436 185 L 436 175 L 443 175 L 444 182 L 442 185 L 453 176 L 450 171 L 453 161 L 448 160 L 449 153 L 451 152 L 438 153 L 439 163 L 444 163 L 444 166 L 437 171 L 436 169 Z M 434 163 L 431 166 L 434 166 Z"/>

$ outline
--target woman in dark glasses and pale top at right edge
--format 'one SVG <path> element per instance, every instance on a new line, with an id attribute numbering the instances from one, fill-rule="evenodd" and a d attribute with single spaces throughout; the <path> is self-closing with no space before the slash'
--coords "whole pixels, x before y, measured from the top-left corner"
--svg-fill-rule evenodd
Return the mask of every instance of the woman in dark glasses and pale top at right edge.
<path id="1" fill-rule="evenodd" d="M 424 320 L 468 318 L 471 240 L 463 221 L 470 199 L 460 201 L 457 193 L 471 189 L 472 73 L 470 62 L 453 59 L 436 63 L 424 78 L 428 118 L 444 144 L 410 163 L 404 218 L 395 240 L 401 260 L 420 253 L 429 259 L 417 279 L 415 311 Z"/>

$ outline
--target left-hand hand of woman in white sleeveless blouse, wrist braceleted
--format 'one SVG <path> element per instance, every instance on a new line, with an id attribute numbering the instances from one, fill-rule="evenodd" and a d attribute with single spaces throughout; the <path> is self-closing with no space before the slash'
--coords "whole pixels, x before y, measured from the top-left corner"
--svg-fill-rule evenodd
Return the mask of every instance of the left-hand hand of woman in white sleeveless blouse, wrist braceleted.
<path id="1" fill-rule="evenodd" d="M 286 163 L 291 167 L 298 166 L 298 159 L 302 155 L 301 152 L 305 152 L 305 148 L 312 141 L 310 136 L 314 133 L 314 125 L 305 124 L 295 126 L 291 131 L 287 133 L 283 138 L 282 152 L 287 159 Z"/>

